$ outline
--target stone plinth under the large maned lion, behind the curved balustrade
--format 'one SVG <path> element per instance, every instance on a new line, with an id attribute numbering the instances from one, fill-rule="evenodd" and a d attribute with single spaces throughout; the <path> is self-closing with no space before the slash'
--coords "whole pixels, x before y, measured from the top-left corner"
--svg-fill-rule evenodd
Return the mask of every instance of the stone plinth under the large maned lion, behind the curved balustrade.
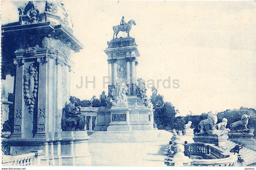
<path id="1" fill-rule="evenodd" d="M 226 149 L 227 138 L 227 131 L 216 131 L 214 133 L 201 132 L 194 134 L 193 140 L 195 141 L 195 143 L 211 143 L 223 149 Z"/>

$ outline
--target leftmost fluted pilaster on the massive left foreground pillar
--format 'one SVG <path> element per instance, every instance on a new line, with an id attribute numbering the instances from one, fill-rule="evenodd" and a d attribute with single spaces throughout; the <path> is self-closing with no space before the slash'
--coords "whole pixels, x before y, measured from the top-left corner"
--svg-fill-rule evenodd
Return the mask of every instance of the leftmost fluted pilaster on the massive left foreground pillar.
<path id="1" fill-rule="evenodd" d="M 16 59 L 13 64 L 17 65 L 14 103 L 14 133 L 13 136 L 24 138 L 24 59 Z"/>

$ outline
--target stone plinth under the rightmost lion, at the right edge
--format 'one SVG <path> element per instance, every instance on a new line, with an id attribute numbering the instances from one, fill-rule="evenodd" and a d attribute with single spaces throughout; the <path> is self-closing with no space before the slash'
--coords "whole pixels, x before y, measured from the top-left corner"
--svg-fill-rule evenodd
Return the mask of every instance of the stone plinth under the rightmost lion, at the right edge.
<path id="1" fill-rule="evenodd" d="M 254 129 L 229 131 L 228 139 L 232 142 L 244 145 L 246 148 L 256 150 L 256 142 L 253 138 L 253 132 Z"/>

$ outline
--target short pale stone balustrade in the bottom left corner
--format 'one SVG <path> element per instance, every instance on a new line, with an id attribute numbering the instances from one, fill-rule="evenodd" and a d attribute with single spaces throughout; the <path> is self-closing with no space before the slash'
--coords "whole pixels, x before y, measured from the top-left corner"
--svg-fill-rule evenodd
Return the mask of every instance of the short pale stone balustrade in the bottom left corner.
<path id="1" fill-rule="evenodd" d="M 39 157 L 43 155 L 43 150 L 32 151 L 22 155 L 5 155 L 2 159 L 3 166 L 30 166 L 40 165 Z"/>

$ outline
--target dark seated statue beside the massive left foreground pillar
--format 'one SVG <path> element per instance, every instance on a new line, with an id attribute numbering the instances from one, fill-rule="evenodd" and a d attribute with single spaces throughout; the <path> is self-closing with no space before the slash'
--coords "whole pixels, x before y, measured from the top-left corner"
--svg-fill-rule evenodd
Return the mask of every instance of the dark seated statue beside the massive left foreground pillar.
<path id="1" fill-rule="evenodd" d="M 74 106 L 76 98 L 70 96 L 69 100 L 71 102 L 63 108 L 61 119 L 62 131 L 83 130 L 85 128 L 85 116 L 76 111 L 77 107 Z"/>

